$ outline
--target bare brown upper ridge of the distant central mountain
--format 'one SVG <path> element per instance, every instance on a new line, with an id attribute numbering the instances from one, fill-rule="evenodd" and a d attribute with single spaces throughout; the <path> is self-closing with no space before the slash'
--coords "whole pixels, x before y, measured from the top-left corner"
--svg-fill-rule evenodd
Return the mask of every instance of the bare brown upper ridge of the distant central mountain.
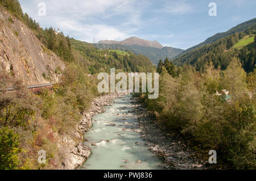
<path id="1" fill-rule="evenodd" d="M 154 47 L 154 48 L 163 48 L 158 41 L 148 41 L 140 39 L 136 36 L 129 37 L 123 41 L 113 41 L 113 40 L 103 40 L 99 41 L 98 44 L 120 44 L 120 45 L 141 45 L 143 47 Z"/>

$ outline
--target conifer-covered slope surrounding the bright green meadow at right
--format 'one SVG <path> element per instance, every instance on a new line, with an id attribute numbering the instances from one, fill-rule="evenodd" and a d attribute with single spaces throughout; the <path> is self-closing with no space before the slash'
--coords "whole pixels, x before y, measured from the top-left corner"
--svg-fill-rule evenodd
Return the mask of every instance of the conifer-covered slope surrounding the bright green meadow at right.
<path id="1" fill-rule="evenodd" d="M 190 64 L 195 66 L 196 70 L 204 72 L 207 64 L 212 62 L 214 68 L 225 70 L 234 57 L 238 57 L 242 63 L 243 69 L 247 73 L 255 68 L 255 43 L 251 43 L 241 48 L 233 48 L 233 45 L 243 39 L 245 36 L 254 38 L 256 33 L 256 23 L 246 28 L 246 30 L 232 35 L 225 36 L 222 39 L 204 45 L 203 47 L 193 49 L 180 57 L 174 59 L 176 65 Z M 254 39 L 255 41 L 255 39 Z"/>

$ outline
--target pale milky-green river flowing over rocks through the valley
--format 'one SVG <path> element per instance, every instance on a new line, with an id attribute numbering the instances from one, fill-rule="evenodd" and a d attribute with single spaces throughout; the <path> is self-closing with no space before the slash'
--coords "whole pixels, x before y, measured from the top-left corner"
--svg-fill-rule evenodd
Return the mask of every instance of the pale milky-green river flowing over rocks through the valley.
<path id="1" fill-rule="evenodd" d="M 132 102 L 131 95 L 123 96 L 93 117 L 93 126 L 84 135 L 92 153 L 79 169 L 160 169 L 162 161 L 141 138 Z"/>

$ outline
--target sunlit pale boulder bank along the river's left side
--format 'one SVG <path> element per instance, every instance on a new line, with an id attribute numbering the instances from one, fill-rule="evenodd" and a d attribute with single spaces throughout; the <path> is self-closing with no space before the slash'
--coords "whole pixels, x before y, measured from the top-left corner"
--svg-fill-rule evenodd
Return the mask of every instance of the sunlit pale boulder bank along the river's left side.
<path id="1" fill-rule="evenodd" d="M 90 148 L 83 144 L 84 133 L 92 126 L 92 117 L 98 113 L 105 112 L 105 106 L 109 106 L 112 100 L 126 93 L 113 93 L 95 98 L 88 111 L 82 113 L 82 119 L 71 134 L 63 136 L 57 142 L 61 153 L 63 153 L 62 165 L 59 169 L 72 170 L 81 166 L 90 155 Z"/>

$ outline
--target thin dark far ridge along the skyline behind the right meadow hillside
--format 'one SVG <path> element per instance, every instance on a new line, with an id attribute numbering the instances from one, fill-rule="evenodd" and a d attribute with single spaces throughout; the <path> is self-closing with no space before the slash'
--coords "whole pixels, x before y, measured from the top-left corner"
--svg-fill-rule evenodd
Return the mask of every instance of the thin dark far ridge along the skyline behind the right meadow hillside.
<path id="1" fill-rule="evenodd" d="M 253 26 L 253 24 L 255 24 L 255 23 L 256 23 L 256 18 L 250 19 L 246 22 L 238 24 L 236 27 L 233 27 L 233 28 L 231 28 L 230 30 L 228 30 L 226 32 L 216 33 L 216 35 L 213 35 L 213 36 L 209 37 L 203 43 L 200 43 L 198 45 L 195 45 L 191 48 L 186 49 L 183 53 L 179 54 L 178 56 L 181 56 L 182 54 L 187 53 L 190 50 L 202 47 L 202 46 L 210 44 L 210 43 L 214 43 L 215 41 L 220 40 L 222 37 L 232 35 L 235 32 L 242 32 L 242 31 L 246 30 L 246 28 L 248 28 L 250 26 Z"/>

